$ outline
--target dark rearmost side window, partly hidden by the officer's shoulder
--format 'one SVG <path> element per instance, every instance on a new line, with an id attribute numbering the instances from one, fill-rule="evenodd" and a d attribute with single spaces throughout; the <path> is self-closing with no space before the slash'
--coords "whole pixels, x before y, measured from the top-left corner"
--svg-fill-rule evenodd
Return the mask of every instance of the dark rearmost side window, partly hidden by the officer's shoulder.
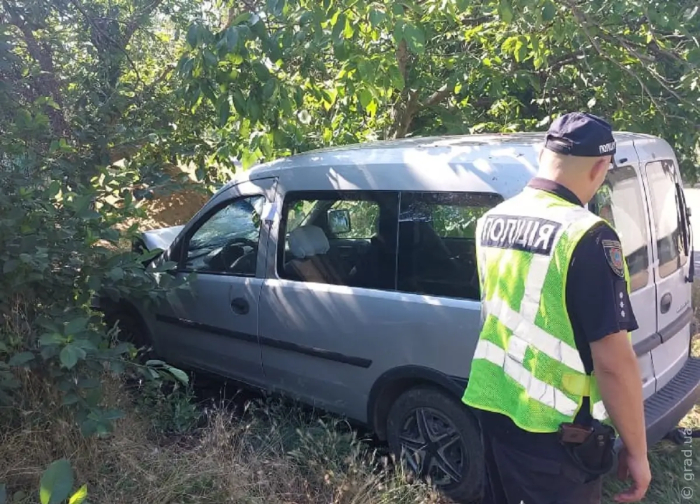
<path id="1" fill-rule="evenodd" d="M 503 201 L 476 193 L 402 193 L 398 290 L 479 299 L 476 221 Z"/>

